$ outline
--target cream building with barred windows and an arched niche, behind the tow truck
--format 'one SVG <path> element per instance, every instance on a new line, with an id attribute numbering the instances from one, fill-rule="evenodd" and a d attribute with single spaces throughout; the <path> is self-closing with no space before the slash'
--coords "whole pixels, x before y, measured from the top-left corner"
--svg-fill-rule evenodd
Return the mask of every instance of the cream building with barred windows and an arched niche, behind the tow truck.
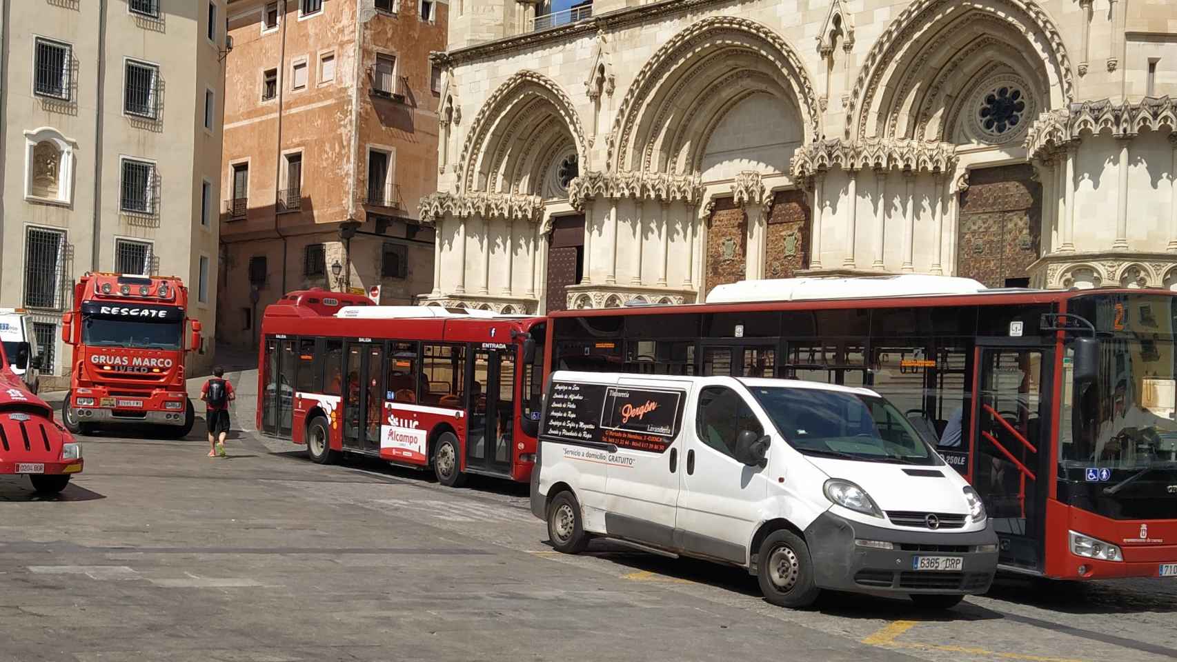
<path id="1" fill-rule="evenodd" d="M 0 7 L 0 306 L 68 385 L 61 314 L 86 272 L 180 276 L 212 361 L 225 0 Z"/>

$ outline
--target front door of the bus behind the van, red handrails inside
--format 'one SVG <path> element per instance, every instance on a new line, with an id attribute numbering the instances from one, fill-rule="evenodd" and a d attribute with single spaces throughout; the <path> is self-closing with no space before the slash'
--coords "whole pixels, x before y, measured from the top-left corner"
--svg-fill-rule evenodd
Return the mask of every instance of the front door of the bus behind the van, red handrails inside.
<path id="1" fill-rule="evenodd" d="M 1040 570 L 1050 473 L 1049 348 L 978 347 L 972 484 L 1000 541 L 1000 563 Z"/>

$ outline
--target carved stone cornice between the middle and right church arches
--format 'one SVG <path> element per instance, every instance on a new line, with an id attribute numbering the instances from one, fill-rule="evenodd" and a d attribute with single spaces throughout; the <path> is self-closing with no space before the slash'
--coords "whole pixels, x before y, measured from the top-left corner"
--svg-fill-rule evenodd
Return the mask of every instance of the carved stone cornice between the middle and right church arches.
<path id="1" fill-rule="evenodd" d="M 893 138 L 851 141 L 834 138 L 798 147 L 793 152 L 790 173 L 798 180 L 831 168 L 950 173 L 956 168 L 956 146 L 951 142 Z"/>

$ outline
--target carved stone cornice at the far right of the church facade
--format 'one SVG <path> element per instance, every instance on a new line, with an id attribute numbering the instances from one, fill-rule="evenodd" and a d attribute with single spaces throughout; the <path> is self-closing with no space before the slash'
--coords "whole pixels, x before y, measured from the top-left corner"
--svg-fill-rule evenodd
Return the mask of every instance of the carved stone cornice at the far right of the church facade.
<path id="1" fill-rule="evenodd" d="M 1080 141 L 1084 133 L 1110 131 L 1117 138 L 1131 138 L 1142 131 L 1164 127 L 1169 127 L 1170 133 L 1177 132 L 1177 99 L 1145 96 L 1135 103 L 1103 99 L 1039 114 L 1023 145 L 1030 159 L 1045 160 Z"/>

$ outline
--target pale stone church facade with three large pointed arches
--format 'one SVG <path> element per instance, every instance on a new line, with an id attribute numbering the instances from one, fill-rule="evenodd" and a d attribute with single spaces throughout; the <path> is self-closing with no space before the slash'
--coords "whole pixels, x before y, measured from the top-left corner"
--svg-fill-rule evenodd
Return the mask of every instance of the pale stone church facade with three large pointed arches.
<path id="1" fill-rule="evenodd" d="M 452 6 L 426 303 L 1177 285 L 1177 1 Z M 536 12 L 539 15 L 536 15 Z"/>

